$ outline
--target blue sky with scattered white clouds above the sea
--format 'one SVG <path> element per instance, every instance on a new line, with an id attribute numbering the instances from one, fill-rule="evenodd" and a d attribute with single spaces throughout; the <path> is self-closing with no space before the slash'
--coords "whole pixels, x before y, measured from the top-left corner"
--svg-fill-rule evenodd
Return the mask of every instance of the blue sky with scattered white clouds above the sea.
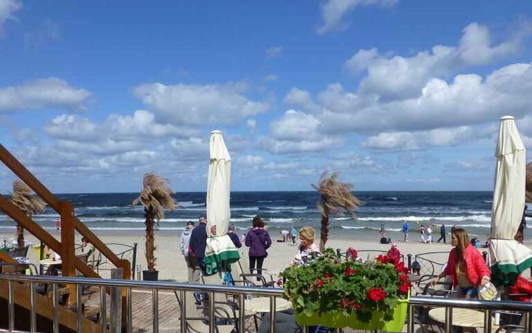
<path id="1" fill-rule="evenodd" d="M 56 193 L 205 191 L 212 130 L 233 191 L 490 191 L 531 41 L 522 0 L 0 0 L 0 143 Z"/>

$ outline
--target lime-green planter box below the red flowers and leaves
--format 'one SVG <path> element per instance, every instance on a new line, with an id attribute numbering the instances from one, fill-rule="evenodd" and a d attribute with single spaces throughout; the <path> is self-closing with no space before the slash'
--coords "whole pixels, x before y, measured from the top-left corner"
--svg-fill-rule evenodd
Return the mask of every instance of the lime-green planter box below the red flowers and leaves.
<path id="1" fill-rule="evenodd" d="M 343 314 L 312 314 L 306 316 L 305 314 L 295 314 L 296 322 L 299 325 L 316 326 L 322 325 L 325 327 L 351 327 L 355 330 L 381 330 L 384 332 L 402 332 L 402 327 L 405 326 L 405 319 L 407 318 L 408 300 L 399 300 L 395 311 L 393 311 L 393 319 L 391 321 L 382 321 L 382 312 L 374 311 L 369 323 L 362 323 L 358 320 L 356 314 L 351 316 L 344 316 Z"/>

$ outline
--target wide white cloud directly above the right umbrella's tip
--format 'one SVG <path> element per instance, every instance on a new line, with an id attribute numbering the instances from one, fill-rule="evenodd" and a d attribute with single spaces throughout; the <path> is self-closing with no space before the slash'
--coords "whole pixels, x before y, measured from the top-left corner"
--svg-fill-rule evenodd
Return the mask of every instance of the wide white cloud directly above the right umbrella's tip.
<path id="1" fill-rule="evenodd" d="M 324 94 L 330 94 L 328 88 Z M 432 78 L 420 96 L 381 101 L 372 95 L 344 92 L 337 85 L 337 99 L 324 100 L 319 115 L 330 133 L 344 131 L 410 131 L 475 125 L 504 114 L 520 118 L 532 109 L 531 64 L 503 67 L 482 78 L 477 74 L 454 77 L 451 83 Z M 351 102 L 351 103 L 348 103 Z"/>

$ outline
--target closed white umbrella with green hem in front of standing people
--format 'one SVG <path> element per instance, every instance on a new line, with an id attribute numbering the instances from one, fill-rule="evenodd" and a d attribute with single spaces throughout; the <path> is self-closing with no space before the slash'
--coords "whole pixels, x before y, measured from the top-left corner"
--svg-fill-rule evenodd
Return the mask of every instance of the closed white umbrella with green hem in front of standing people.
<path id="1" fill-rule="evenodd" d="M 211 132 L 211 162 L 207 180 L 207 246 L 205 265 L 207 275 L 217 273 L 222 268 L 240 259 L 238 250 L 227 234 L 231 209 L 231 156 L 225 146 L 222 133 Z"/>

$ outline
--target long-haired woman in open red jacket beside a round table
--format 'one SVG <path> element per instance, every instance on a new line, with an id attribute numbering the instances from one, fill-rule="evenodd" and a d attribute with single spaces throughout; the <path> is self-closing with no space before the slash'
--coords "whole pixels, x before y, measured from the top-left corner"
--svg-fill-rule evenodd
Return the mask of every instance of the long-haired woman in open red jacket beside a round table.
<path id="1" fill-rule="evenodd" d="M 458 291 L 459 298 L 477 298 L 477 286 L 490 281 L 490 268 L 475 246 L 469 241 L 468 233 L 462 228 L 456 229 L 452 234 L 451 244 L 454 248 L 449 253 L 447 267 L 434 280 L 432 285 L 445 275 L 452 278 L 452 287 Z"/>

